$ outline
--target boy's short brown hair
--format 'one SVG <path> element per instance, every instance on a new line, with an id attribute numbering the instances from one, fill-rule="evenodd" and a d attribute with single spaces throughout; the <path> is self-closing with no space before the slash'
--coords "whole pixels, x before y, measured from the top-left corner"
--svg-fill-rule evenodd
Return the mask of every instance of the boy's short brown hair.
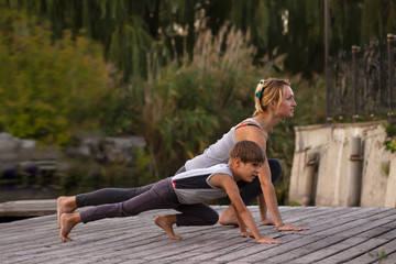
<path id="1" fill-rule="evenodd" d="M 243 163 L 264 163 L 265 153 L 263 148 L 253 141 L 240 141 L 230 151 L 230 158 L 239 157 Z"/>

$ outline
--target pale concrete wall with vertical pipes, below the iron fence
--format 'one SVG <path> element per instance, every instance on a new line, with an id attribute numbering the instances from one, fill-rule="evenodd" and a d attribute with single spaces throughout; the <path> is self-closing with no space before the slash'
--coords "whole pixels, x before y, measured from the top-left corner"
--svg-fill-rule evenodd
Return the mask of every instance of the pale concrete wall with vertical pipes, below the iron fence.
<path id="1" fill-rule="evenodd" d="M 395 207 L 396 154 L 383 122 L 297 127 L 289 200 L 316 206 Z"/>

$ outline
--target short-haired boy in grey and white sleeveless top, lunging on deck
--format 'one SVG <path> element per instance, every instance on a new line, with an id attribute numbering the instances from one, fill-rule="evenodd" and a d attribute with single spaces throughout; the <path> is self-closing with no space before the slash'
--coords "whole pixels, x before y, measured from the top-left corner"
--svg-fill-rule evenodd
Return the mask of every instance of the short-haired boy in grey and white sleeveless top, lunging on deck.
<path id="1" fill-rule="evenodd" d="M 264 238 L 246 206 L 243 204 L 237 185 L 238 180 L 252 182 L 265 162 L 260 145 L 252 141 L 240 141 L 230 151 L 229 164 L 218 164 L 209 168 L 191 169 L 160 180 L 153 188 L 127 201 L 101 205 L 77 213 L 61 216 L 59 238 L 64 242 L 72 229 L 80 222 L 87 223 L 105 218 L 130 217 L 152 209 L 175 209 L 182 213 L 157 216 L 155 224 L 162 228 L 172 240 L 179 240 L 173 224 L 212 226 L 219 216 L 202 201 L 229 196 L 238 216 L 242 237 L 254 237 L 257 243 L 278 244 L 277 240 Z M 250 232 L 246 231 L 246 227 Z"/>

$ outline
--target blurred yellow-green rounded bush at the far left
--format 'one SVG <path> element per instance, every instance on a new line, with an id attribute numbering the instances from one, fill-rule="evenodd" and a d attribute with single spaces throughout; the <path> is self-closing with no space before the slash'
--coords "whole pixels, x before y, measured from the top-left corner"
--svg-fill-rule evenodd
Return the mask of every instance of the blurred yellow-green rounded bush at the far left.
<path id="1" fill-rule="evenodd" d="M 76 129 L 97 129 L 112 100 L 101 48 L 13 12 L 0 18 L 0 130 L 65 144 Z"/>

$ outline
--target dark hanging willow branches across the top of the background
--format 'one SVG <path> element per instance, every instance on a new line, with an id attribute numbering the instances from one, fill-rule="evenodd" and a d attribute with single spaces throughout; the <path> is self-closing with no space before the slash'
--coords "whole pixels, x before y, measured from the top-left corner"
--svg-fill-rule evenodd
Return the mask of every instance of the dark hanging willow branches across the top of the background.
<path id="1" fill-rule="evenodd" d="M 228 21 L 243 33 L 250 32 L 257 48 L 256 63 L 274 50 L 287 54 L 292 73 L 321 73 L 324 64 L 324 1 L 317 0 L 0 0 L 0 4 L 24 10 L 52 22 L 55 38 L 65 29 L 105 46 L 106 57 L 124 74 L 146 74 L 144 57 L 161 41 L 173 57 L 193 54 L 198 33 L 217 35 Z M 386 38 L 396 28 L 395 0 L 329 1 L 330 55 L 349 51 L 370 38 Z M 309 29 L 309 30 L 307 30 Z"/>

